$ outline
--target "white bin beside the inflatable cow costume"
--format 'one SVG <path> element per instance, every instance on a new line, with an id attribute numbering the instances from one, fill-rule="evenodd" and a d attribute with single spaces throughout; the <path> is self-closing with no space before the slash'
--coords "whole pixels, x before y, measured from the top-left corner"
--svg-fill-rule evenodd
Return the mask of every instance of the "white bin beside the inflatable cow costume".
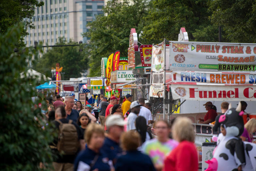
<path id="1" fill-rule="evenodd" d="M 207 169 L 208 164 L 205 163 L 207 160 L 211 160 L 213 158 L 213 150 L 215 149 L 217 143 L 216 142 L 203 142 L 202 144 L 202 171 Z"/>

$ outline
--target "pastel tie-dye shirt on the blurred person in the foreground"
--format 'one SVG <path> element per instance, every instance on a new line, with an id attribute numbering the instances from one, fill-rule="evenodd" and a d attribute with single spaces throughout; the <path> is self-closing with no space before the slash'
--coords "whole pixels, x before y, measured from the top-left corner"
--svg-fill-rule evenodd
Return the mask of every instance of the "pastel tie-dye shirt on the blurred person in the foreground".
<path id="1" fill-rule="evenodd" d="M 149 155 L 154 164 L 163 165 L 165 156 L 177 147 L 178 144 L 179 143 L 173 139 L 169 139 L 167 142 L 162 143 L 154 138 L 144 142 L 142 145 L 142 152 Z"/>

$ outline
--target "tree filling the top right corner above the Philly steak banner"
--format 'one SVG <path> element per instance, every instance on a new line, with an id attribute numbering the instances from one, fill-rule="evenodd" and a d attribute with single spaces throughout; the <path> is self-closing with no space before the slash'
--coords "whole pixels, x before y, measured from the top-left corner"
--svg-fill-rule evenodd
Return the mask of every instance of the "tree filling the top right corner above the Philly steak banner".
<path id="1" fill-rule="evenodd" d="M 221 25 L 229 42 L 256 42 L 256 1 L 214 0 L 209 4 L 212 23 Z"/>

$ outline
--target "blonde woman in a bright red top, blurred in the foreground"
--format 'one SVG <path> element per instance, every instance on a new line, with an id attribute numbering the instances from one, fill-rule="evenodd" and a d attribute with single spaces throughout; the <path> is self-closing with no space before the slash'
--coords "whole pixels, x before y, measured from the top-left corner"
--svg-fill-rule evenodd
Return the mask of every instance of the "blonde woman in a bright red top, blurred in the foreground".
<path id="1" fill-rule="evenodd" d="M 163 171 L 197 171 L 198 156 L 194 145 L 195 131 L 190 119 L 176 118 L 172 133 L 179 145 L 164 160 Z"/>

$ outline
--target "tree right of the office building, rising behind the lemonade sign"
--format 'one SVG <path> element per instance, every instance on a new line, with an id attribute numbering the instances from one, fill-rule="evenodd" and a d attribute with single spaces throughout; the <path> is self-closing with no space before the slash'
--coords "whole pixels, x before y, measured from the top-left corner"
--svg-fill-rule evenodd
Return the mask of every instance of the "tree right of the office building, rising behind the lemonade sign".
<path id="1" fill-rule="evenodd" d="M 131 28 L 139 34 L 144 26 L 143 17 L 147 15 L 147 0 L 112 0 L 103 8 L 105 15 L 87 24 L 90 43 L 85 45 L 89 56 L 90 76 L 100 75 L 101 58 L 120 50 L 120 56 L 127 56 Z"/>

